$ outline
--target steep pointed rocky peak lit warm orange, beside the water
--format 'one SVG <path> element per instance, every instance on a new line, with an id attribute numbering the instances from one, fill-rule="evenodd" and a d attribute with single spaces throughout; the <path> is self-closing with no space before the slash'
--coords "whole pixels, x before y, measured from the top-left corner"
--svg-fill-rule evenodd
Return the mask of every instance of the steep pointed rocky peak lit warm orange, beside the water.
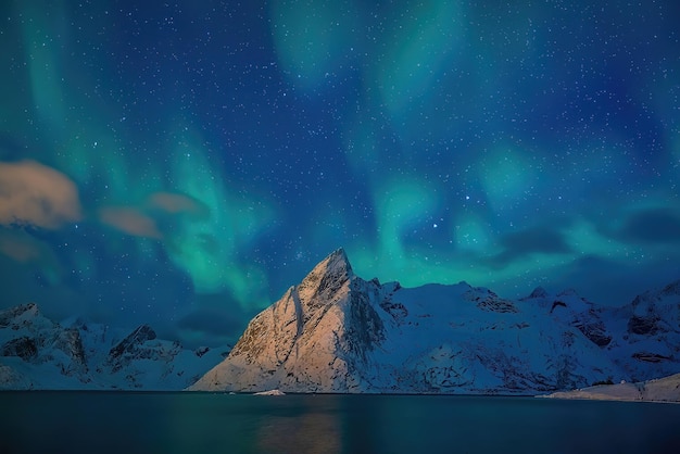
<path id="1" fill-rule="evenodd" d="M 385 337 L 372 297 L 342 249 L 248 325 L 228 361 L 192 390 L 351 392 L 366 389 L 370 352 Z"/>

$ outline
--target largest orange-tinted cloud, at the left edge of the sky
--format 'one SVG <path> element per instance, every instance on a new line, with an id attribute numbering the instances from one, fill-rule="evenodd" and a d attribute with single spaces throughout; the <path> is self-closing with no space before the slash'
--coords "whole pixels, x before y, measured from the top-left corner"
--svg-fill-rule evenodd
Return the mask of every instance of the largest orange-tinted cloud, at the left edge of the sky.
<path id="1" fill-rule="evenodd" d="M 81 218 L 76 185 L 35 161 L 0 163 L 0 224 L 58 228 Z"/>

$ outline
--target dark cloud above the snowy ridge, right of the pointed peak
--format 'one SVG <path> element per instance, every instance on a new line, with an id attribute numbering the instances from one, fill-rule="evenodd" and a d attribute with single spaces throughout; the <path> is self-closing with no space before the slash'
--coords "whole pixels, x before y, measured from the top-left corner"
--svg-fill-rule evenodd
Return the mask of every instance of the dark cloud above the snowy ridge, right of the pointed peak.
<path id="1" fill-rule="evenodd" d="M 503 267 L 530 254 L 565 254 L 572 252 L 562 231 L 552 226 L 532 227 L 501 237 L 500 253 L 493 255 L 488 264 Z"/>

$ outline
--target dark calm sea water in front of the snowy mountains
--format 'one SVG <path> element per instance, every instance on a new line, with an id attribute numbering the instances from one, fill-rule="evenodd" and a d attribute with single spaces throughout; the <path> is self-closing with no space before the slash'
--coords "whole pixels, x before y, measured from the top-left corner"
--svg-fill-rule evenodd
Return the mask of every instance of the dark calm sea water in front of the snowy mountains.
<path id="1" fill-rule="evenodd" d="M 680 405 L 2 392 L 0 453 L 680 453 Z"/>

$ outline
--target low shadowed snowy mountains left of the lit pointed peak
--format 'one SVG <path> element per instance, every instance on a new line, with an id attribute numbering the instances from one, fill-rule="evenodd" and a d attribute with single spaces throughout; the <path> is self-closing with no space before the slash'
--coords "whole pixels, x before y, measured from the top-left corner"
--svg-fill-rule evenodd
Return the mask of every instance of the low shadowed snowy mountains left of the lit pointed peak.
<path id="1" fill-rule="evenodd" d="M 0 312 L 0 389 L 180 390 L 221 352 L 182 349 L 147 325 L 129 333 L 80 319 L 62 326 L 33 303 Z"/>

